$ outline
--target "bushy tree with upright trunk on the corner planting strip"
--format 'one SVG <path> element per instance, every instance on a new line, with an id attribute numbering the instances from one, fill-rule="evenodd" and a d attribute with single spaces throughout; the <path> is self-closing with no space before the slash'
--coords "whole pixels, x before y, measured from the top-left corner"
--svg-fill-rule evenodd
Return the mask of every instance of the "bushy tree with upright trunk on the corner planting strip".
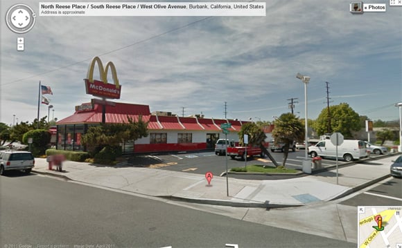
<path id="1" fill-rule="evenodd" d="M 304 125 L 296 115 L 292 113 L 283 113 L 275 120 L 275 128 L 272 131 L 272 137 L 275 142 L 284 143 L 283 162 L 285 166 L 288 159 L 289 147 L 293 142 L 302 142 L 304 140 Z"/>

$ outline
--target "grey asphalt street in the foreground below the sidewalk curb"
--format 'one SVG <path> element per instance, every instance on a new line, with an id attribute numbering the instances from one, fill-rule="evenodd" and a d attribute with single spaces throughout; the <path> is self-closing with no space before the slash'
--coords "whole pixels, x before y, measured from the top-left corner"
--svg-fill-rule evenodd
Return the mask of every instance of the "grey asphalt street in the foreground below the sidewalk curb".
<path id="1" fill-rule="evenodd" d="M 1 247 L 356 247 L 35 173 L 0 185 Z"/>

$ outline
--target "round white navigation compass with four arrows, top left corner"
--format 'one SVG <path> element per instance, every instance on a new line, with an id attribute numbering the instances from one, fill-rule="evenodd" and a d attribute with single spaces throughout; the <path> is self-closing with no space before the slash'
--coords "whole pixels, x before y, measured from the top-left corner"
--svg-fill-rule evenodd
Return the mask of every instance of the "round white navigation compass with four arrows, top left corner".
<path id="1" fill-rule="evenodd" d="M 36 14 L 29 6 L 19 3 L 8 9 L 6 23 L 12 32 L 23 34 L 35 25 Z"/>

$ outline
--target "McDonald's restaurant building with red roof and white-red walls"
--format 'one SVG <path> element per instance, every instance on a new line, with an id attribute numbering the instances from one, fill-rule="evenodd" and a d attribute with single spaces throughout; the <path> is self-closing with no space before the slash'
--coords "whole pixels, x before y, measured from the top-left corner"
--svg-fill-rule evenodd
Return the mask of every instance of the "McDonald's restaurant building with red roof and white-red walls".
<path id="1" fill-rule="evenodd" d="M 121 144 L 123 153 L 152 153 L 164 151 L 198 151 L 213 149 L 219 138 L 225 138 L 220 124 L 230 123 L 229 140 L 238 141 L 239 120 L 217 120 L 201 115 L 178 117 L 169 112 L 150 113 L 148 105 L 114 103 L 105 106 L 105 123 L 128 123 L 128 117 L 137 121 L 139 116 L 148 122 L 148 137 Z M 90 126 L 102 122 L 103 105 L 96 101 L 76 106 L 73 115 L 57 122 L 56 148 L 85 151 L 81 137 Z"/>

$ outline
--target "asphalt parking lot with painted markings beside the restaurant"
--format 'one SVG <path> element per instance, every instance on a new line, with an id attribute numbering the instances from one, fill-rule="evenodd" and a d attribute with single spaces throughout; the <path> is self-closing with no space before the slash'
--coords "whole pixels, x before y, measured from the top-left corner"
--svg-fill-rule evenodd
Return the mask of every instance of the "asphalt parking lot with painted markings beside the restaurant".
<path id="1" fill-rule="evenodd" d="M 274 152 L 271 153 L 278 164 L 282 164 L 283 153 Z M 288 153 L 288 159 L 286 160 L 286 168 L 297 169 L 302 171 L 302 160 L 304 159 L 304 150 L 290 151 Z M 371 155 L 373 158 L 377 155 Z M 220 175 L 226 171 L 226 157 L 225 155 L 215 155 L 213 151 L 202 151 L 202 152 L 191 152 L 191 153 L 171 153 L 171 154 L 156 154 L 150 155 L 150 158 L 155 160 L 155 163 L 150 165 L 150 168 L 155 169 L 166 169 L 171 171 L 183 171 L 187 173 L 200 173 L 204 174 L 207 171 L 211 171 L 213 175 Z M 308 156 L 310 158 L 310 156 Z M 358 162 L 358 160 L 356 161 Z M 344 160 L 338 160 L 338 164 L 344 164 Z M 247 164 L 264 164 L 272 165 L 272 162 L 268 157 L 259 158 L 255 156 L 254 158 L 248 158 Z M 322 166 L 334 166 L 336 164 L 335 159 L 324 159 L 322 160 Z M 227 157 L 227 167 L 228 170 L 234 167 L 245 166 L 246 162 L 244 160 L 235 159 Z M 233 176 L 233 175 L 231 175 Z M 266 176 L 263 177 L 264 179 Z M 263 179 L 261 178 L 261 179 Z M 255 178 L 256 179 L 256 178 Z M 274 179 L 274 178 L 272 178 Z"/>

